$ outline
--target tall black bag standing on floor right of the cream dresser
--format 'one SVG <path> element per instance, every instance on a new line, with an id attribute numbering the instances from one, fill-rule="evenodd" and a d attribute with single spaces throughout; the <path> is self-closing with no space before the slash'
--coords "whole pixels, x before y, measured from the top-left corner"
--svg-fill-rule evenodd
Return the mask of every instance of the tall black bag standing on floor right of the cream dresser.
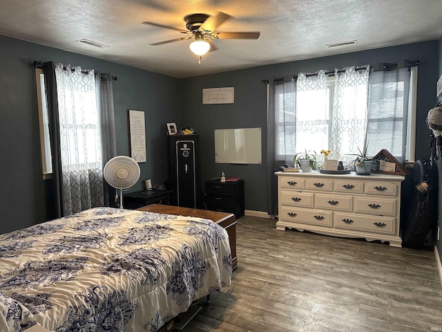
<path id="1" fill-rule="evenodd" d="M 426 160 L 417 160 L 412 177 L 414 189 L 410 214 L 403 230 L 402 245 L 420 248 L 427 242 L 434 246 L 438 210 L 437 167 Z"/>

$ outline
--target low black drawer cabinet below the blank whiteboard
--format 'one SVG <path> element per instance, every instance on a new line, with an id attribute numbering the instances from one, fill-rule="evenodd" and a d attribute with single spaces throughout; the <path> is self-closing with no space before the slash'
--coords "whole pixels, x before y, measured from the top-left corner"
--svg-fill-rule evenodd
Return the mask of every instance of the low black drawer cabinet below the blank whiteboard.
<path id="1" fill-rule="evenodd" d="M 244 180 L 206 182 L 206 204 L 209 210 L 244 216 Z"/>

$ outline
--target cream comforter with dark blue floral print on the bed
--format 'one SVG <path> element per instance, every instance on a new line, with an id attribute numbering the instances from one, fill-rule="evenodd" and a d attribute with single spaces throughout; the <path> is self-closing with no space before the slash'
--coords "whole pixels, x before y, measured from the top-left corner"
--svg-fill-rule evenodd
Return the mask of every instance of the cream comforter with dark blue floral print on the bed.
<path id="1" fill-rule="evenodd" d="M 231 283 L 212 221 L 93 208 L 0 235 L 0 331 L 157 331 Z"/>

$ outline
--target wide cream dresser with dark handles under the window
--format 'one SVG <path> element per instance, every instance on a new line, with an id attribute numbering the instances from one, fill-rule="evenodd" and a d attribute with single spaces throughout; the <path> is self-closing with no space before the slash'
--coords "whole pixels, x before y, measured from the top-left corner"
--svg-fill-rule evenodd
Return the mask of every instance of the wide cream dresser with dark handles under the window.
<path id="1" fill-rule="evenodd" d="M 276 172 L 276 228 L 387 241 L 399 237 L 404 176 Z"/>

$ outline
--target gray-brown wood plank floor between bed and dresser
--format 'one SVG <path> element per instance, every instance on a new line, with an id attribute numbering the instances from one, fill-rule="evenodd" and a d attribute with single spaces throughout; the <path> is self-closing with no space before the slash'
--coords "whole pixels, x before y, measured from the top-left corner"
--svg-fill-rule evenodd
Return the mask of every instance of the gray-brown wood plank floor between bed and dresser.
<path id="1" fill-rule="evenodd" d="M 238 270 L 182 331 L 442 331 L 434 252 L 238 219 Z"/>

